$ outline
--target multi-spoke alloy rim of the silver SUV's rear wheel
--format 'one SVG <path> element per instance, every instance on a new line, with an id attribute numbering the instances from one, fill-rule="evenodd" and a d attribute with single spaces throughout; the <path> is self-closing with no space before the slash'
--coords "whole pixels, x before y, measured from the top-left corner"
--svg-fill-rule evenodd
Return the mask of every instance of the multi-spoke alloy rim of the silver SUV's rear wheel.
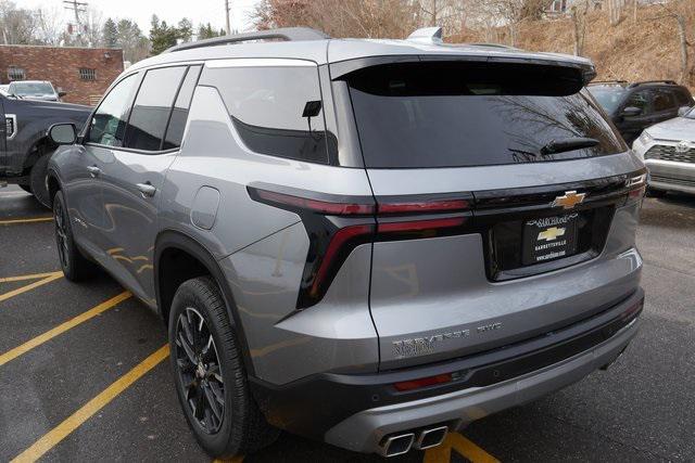
<path id="1" fill-rule="evenodd" d="M 191 414 L 203 432 L 215 434 L 225 416 L 225 384 L 215 340 L 192 307 L 178 317 L 175 344 L 179 387 Z"/>

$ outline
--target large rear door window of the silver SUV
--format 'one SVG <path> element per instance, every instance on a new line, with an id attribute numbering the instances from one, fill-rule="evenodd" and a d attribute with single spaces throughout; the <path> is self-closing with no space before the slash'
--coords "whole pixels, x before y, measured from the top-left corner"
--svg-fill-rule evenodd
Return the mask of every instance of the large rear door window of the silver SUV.
<path id="1" fill-rule="evenodd" d="M 169 113 L 185 66 L 151 69 L 144 75 L 135 99 L 124 146 L 144 151 L 160 151 Z"/>

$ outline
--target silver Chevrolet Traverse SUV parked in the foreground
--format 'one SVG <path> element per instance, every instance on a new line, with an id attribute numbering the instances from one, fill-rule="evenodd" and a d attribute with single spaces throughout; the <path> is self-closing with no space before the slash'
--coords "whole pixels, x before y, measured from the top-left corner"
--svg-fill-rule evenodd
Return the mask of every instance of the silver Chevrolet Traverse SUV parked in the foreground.
<path id="1" fill-rule="evenodd" d="M 437 446 L 635 335 L 646 170 L 583 89 L 594 74 L 437 29 L 175 47 L 80 133 L 50 130 L 63 271 L 96 262 L 162 316 L 212 455 L 280 428 Z"/>

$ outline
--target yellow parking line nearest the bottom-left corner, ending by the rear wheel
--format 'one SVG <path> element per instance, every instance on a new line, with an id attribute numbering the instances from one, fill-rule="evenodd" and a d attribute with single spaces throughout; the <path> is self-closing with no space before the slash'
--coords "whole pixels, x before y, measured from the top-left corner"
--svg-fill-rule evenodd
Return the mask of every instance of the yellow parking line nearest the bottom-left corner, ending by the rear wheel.
<path id="1" fill-rule="evenodd" d="M 99 410 L 104 408 L 109 402 L 116 398 L 121 393 L 130 387 L 136 381 L 141 378 L 146 373 L 159 365 L 169 355 L 168 344 L 162 346 L 150 357 L 144 359 L 132 370 L 121 376 L 109 387 L 102 390 L 97 397 L 85 403 L 79 410 L 68 416 L 61 424 L 45 434 L 39 440 L 34 442 L 31 447 L 20 453 L 12 460 L 12 463 L 34 462 L 40 459 L 46 452 L 55 447 L 65 439 L 70 434 L 81 426 L 87 420 L 94 415 Z"/>

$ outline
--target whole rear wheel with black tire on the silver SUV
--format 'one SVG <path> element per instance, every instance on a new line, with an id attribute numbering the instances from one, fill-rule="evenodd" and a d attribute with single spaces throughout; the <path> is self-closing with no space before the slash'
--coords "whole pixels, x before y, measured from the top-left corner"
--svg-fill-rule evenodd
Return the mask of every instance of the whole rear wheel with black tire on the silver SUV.
<path id="1" fill-rule="evenodd" d="M 240 340 L 212 278 L 179 286 L 168 332 L 176 393 L 200 446 L 213 458 L 230 459 L 273 443 L 279 430 L 267 424 L 251 396 Z"/>

